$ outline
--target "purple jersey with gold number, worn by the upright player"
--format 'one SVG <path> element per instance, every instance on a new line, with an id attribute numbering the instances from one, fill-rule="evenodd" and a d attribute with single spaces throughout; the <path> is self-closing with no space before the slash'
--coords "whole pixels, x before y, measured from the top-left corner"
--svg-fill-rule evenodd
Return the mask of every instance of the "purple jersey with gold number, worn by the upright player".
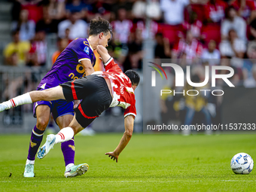
<path id="1" fill-rule="evenodd" d="M 89 60 L 95 65 L 96 57 L 87 38 L 75 38 L 65 50 L 60 53 L 53 67 L 41 80 L 38 88 L 47 89 L 56 87 L 67 81 L 72 81 L 84 76 L 84 67 L 81 60 Z"/>

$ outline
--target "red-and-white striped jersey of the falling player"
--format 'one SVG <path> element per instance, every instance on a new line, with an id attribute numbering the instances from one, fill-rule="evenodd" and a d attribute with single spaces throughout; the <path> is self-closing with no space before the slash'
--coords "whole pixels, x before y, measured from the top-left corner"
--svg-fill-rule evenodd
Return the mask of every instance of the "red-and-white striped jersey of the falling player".
<path id="1" fill-rule="evenodd" d="M 104 64 L 105 72 L 94 72 L 92 75 L 99 75 L 111 81 L 113 100 L 109 107 L 120 106 L 125 109 L 124 117 L 133 115 L 136 117 L 136 100 L 132 82 L 111 58 Z"/>

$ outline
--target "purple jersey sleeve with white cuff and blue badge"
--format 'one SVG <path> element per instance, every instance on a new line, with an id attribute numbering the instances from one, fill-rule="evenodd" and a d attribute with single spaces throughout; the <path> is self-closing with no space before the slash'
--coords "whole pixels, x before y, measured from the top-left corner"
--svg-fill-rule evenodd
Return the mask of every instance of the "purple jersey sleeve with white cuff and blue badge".
<path id="1" fill-rule="evenodd" d="M 77 41 L 74 46 L 72 47 L 72 50 L 74 51 L 75 55 L 78 58 L 78 62 L 81 62 L 82 60 L 90 60 L 90 45 L 87 41 L 83 41 L 81 39 L 74 40 Z"/>

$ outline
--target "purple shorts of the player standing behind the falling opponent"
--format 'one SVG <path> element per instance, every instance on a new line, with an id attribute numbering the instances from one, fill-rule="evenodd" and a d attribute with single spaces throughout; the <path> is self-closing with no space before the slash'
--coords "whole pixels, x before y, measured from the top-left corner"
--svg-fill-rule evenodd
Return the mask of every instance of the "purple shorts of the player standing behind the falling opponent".
<path id="1" fill-rule="evenodd" d="M 37 90 L 42 90 L 41 88 L 38 88 Z M 38 105 L 48 105 L 50 107 L 50 112 L 53 114 L 53 119 L 56 120 L 57 117 L 61 117 L 66 114 L 72 114 L 74 116 L 74 103 L 73 102 L 67 102 L 64 99 L 59 99 L 55 101 L 39 101 L 34 103 L 33 107 L 33 114 L 34 117 L 36 117 L 36 108 Z"/>

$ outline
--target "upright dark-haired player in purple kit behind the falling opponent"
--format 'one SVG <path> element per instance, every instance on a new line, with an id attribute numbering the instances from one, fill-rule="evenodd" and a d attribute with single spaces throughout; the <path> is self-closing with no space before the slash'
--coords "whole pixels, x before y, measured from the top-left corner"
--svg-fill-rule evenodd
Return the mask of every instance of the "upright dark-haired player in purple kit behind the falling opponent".
<path id="1" fill-rule="evenodd" d="M 65 50 L 60 53 L 52 69 L 41 80 L 37 90 L 46 90 L 56 87 L 66 81 L 72 81 L 81 78 L 84 75 L 90 75 L 94 72 L 93 66 L 96 62 L 93 50 L 97 45 L 108 46 L 111 38 L 112 28 L 107 20 L 99 17 L 90 21 L 89 38 L 75 38 Z M 38 151 L 43 139 L 44 130 L 50 119 L 50 113 L 56 121 L 59 129 L 69 126 L 74 116 L 74 105 L 79 101 L 66 102 L 64 99 L 45 102 L 39 101 L 34 104 L 34 117 L 37 117 L 37 123 L 32 130 L 31 140 L 29 142 L 29 154 L 26 160 L 24 177 L 34 177 L 35 154 Z M 15 106 L 15 103 L 11 103 Z M 66 171 L 64 176 L 75 177 L 87 172 L 86 163 L 75 166 L 75 142 L 74 138 L 61 145 Z"/>

